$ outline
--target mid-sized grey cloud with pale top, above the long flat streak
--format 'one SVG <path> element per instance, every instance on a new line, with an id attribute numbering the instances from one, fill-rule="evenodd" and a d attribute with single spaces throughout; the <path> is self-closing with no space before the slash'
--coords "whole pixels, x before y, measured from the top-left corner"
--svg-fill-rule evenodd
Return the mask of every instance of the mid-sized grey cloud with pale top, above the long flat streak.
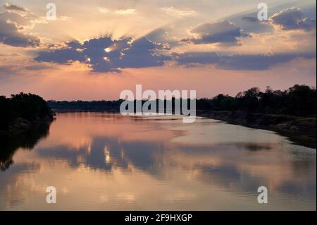
<path id="1" fill-rule="evenodd" d="M 182 42 L 192 44 L 227 43 L 238 44 L 237 37 L 245 36 L 234 23 L 223 20 L 219 23 L 204 23 L 190 30 L 192 37 L 182 39 Z"/>

